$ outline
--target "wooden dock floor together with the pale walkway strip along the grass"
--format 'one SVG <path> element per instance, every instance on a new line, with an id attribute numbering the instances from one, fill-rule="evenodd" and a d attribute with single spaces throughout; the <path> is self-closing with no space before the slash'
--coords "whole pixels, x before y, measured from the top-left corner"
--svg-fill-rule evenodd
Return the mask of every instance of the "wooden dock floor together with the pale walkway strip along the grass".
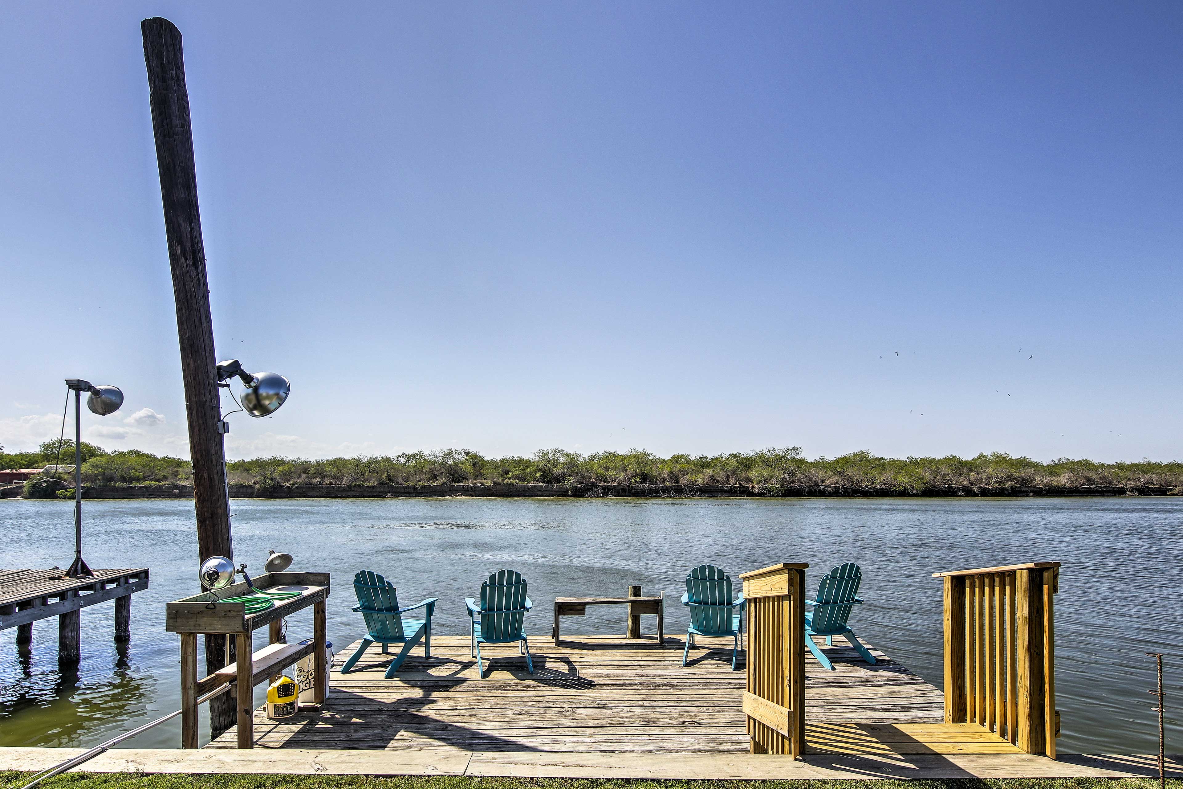
<path id="1" fill-rule="evenodd" d="M 868 666 L 827 648 L 836 671 L 806 665 L 809 714 L 802 758 L 751 755 L 739 701 L 744 671 L 730 641 L 691 653 L 680 639 L 535 638 L 535 673 L 512 647 L 487 647 L 477 675 L 467 636 L 437 636 L 383 679 L 393 655 L 367 654 L 332 674 L 322 710 L 282 722 L 254 717 L 253 750 L 235 730 L 200 750 L 116 749 L 88 772 L 453 775 L 558 778 L 1021 778 L 1152 777 L 1153 756 L 1023 754 L 976 724 L 945 724 L 939 691 L 878 649 Z M 351 654 L 342 651 L 337 667 Z M 282 757 L 276 754 L 282 750 Z M 0 769 L 41 770 L 83 749 L 0 748 Z M 1169 775 L 1183 776 L 1178 757 Z"/>

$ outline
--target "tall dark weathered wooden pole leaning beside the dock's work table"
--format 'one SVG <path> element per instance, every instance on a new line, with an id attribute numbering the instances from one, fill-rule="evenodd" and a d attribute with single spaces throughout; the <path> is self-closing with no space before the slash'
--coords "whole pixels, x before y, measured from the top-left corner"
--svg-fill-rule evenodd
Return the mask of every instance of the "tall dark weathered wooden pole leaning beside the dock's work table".
<path id="1" fill-rule="evenodd" d="M 181 342 L 181 376 L 185 381 L 185 410 L 189 422 L 189 454 L 193 458 L 193 498 L 198 513 L 198 554 L 201 562 L 211 556 L 226 556 L 233 561 L 225 455 L 221 434 L 218 432 L 218 421 L 221 419 L 218 361 L 214 357 L 206 251 L 201 241 L 201 216 L 198 212 L 198 176 L 193 161 L 193 131 L 189 125 L 189 93 L 185 86 L 181 31 L 159 17 L 143 20 L 140 27 L 144 39 L 148 88 L 151 92 L 151 122 L 156 135 L 160 193 L 164 203 L 168 261 L 173 269 L 173 295 L 176 298 L 176 331 Z M 225 636 L 207 635 L 207 672 L 212 674 L 227 662 Z M 209 718 L 214 737 L 233 726 L 237 720 L 233 696 L 224 693 L 212 699 Z"/>

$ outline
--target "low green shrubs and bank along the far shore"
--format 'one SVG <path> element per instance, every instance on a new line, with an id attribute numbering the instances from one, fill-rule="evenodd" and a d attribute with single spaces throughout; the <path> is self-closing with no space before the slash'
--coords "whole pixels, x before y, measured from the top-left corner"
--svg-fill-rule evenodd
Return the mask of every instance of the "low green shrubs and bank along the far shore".
<path id="1" fill-rule="evenodd" d="M 37 452 L 0 452 L 0 468 L 52 466 L 58 441 Z M 193 494 L 192 466 L 180 458 L 140 450 L 109 452 L 82 444 L 84 496 L 175 498 Z M 73 459 L 62 441 L 60 458 Z M 718 455 L 645 450 L 580 454 L 539 450 L 531 457 L 485 458 L 468 450 L 396 455 L 254 458 L 227 464 L 231 496 L 332 498 L 399 496 L 1181 496 L 1183 461 L 1097 463 L 1061 458 L 1040 463 L 1007 453 L 974 458 L 881 458 L 853 452 L 808 459 L 801 447 Z M 5 497 L 72 497 L 72 466 L 56 480 L 30 480 Z M 18 490 L 13 490 L 18 489 Z"/>

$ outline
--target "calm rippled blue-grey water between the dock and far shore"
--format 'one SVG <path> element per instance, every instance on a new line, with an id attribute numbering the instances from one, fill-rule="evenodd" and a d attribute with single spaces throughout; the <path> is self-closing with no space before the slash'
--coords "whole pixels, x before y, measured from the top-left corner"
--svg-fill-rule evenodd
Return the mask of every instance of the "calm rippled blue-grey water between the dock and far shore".
<path id="1" fill-rule="evenodd" d="M 0 568 L 66 567 L 71 507 L 0 500 Z M 852 622 L 856 630 L 939 686 L 942 594 L 931 574 L 1059 560 L 1060 750 L 1156 750 L 1150 649 L 1169 655 L 1169 714 L 1170 699 L 1183 697 L 1183 500 L 235 500 L 233 512 L 235 558 L 252 570 L 261 571 L 273 548 L 296 556 L 293 569 L 334 574 L 329 638 L 338 649 L 363 634 L 349 610 L 349 581 L 363 567 L 393 580 L 405 604 L 439 597 L 438 634 L 466 633 L 463 599 L 491 571 L 517 569 L 537 601 L 528 632 L 543 638 L 560 595 L 620 595 L 635 583 L 664 589 L 674 599 L 666 628 L 675 633 L 687 621 L 677 597 L 693 565 L 715 563 L 733 576 L 808 562 L 814 587 L 830 567 L 854 561 L 868 603 Z M 67 674 L 57 667 L 56 620 L 34 626 L 26 654 L 18 654 L 15 629 L 0 633 L 0 745 L 93 745 L 180 706 L 179 642 L 164 630 L 164 603 L 196 590 L 193 503 L 96 500 L 84 518 L 91 567 L 151 569 L 151 587 L 132 599 L 131 644 L 115 647 L 106 603 L 83 610 L 83 659 Z M 620 633 L 623 619 L 622 609 L 589 609 L 567 627 Z M 289 620 L 289 641 L 310 635 L 310 612 Z M 205 719 L 201 730 L 207 737 Z M 1178 723 L 1168 741 L 1168 752 L 1183 750 Z M 177 720 L 128 742 L 179 744 Z"/>

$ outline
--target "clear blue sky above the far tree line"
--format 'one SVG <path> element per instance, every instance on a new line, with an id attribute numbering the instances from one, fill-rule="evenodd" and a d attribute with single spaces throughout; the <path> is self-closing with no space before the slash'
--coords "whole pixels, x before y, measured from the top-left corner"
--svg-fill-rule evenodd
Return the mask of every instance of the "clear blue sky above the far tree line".
<path id="1" fill-rule="evenodd" d="M 1183 6 L 993 1 L 4 4 L 9 450 L 187 452 L 153 15 L 232 457 L 1183 454 Z"/>

